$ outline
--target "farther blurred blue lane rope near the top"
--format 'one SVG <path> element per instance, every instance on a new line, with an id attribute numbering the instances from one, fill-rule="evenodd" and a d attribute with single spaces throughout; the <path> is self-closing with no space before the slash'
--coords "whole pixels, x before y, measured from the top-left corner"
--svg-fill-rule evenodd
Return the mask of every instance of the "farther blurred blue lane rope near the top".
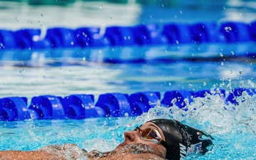
<path id="1" fill-rule="evenodd" d="M 183 43 L 240 43 L 256 41 L 256 21 L 143 24 L 109 26 L 100 34 L 98 27 L 46 30 L 22 28 L 18 31 L 0 29 L 0 49 L 92 48 L 107 46 L 145 46 Z"/>

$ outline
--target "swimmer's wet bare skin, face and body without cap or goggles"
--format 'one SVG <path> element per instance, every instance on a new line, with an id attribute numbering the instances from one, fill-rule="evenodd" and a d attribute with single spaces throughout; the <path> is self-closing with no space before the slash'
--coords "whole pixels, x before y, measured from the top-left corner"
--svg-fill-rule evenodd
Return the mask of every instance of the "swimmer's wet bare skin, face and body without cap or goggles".
<path id="1" fill-rule="evenodd" d="M 140 129 L 156 129 L 165 141 L 164 133 L 152 122 L 146 122 Z M 124 132 L 124 142 L 113 151 L 100 153 L 100 151 L 82 151 L 76 144 L 63 144 L 46 146 L 38 151 L 0 151 L 0 159 L 165 159 L 166 149 L 142 138 L 139 131 Z"/>

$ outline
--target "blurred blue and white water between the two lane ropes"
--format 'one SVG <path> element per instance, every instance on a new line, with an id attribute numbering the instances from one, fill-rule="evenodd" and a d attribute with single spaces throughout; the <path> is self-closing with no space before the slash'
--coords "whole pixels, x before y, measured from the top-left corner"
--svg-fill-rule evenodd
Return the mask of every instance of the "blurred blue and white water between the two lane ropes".
<path id="1" fill-rule="evenodd" d="M 1 97 L 254 88 L 254 43 L 6 51 Z M 198 48 L 200 52 L 195 51 Z M 224 50 L 223 50 L 224 48 Z M 11 52 L 11 53 L 10 53 Z M 223 54 L 223 56 L 220 56 Z M 234 55 L 233 55 L 234 54 Z M 97 102 L 95 100 L 95 102 Z"/>

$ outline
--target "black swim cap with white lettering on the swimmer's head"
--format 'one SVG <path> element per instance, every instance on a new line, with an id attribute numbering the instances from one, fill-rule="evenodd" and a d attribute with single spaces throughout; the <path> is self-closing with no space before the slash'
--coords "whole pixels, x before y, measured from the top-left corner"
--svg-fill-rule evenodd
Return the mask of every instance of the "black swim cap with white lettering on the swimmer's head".
<path id="1" fill-rule="evenodd" d="M 205 154 L 208 146 L 213 144 L 210 140 L 213 137 L 209 134 L 188 127 L 174 119 L 153 119 L 149 122 L 153 122 L 164 132 L 166 159 L 181 160 L 191 153 Z M 203 139 L 203 136 L 207 138 Z"/>

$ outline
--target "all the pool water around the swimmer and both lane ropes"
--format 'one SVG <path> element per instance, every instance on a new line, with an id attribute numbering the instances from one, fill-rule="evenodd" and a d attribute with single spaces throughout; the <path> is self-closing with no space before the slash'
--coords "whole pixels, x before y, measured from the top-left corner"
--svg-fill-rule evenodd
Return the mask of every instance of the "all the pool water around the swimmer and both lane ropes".
<path id="1" fill-rule="evenodd" d="M 51 26 L 132 26 L 139 23 L 255 21 L 254 1 L 161 4 L 112 4 L 76 1 L 70 6 L 29 6 L 0 1 L 0 28 Z M 120 14 L 120 13 L 126 14 Z M 60 14 L 62 13 L 62 14 Z M 93 13 L 93 14 L 92 14 Z M 88 16 L 90 15 L 90 16 Z M 203 15 L 203 16 L 202 16 Z M 0 96 L 28 97 L 106 92 L 255 88 L 255 42 L 0 50 Z M 247 56 L 252 55 L 252 56 Z M 256 97 L 245 93 L 238 105 L 218 95 L 197 97 L 188 111 L 155 107 L 138 117 L 0 122 L 0 150 L 36 150 L 50 144 L 75 143 L 88 151 L 110 151 L 124 131 L 154 118 L 174 118 L 215 138 L 213 151 L 188 159 L 255 159 Z M 193 110 L 196 108 L 196 110 Z M 234 110 L 235 108 L 235 110 Z"/>

